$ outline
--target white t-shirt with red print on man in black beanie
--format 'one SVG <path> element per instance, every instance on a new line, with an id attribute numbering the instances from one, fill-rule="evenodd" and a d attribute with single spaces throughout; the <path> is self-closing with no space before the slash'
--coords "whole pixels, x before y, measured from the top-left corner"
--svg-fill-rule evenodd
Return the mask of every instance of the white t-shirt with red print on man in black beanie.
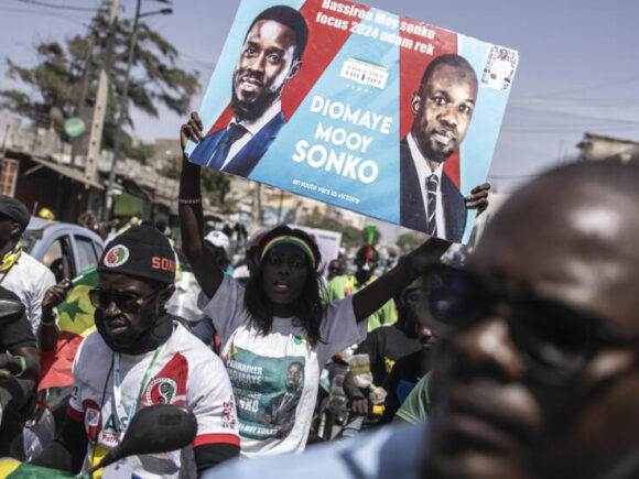
<path id="1" fill-rule="evenodd" d="M 126 412 L 140 393 L 142 378 L 154 353 L 155 350 L 137 356 L 120 355 Z M 122 420 L 118 417 L 113 403 L 112 358 L 112 350 L 98 331 L 93 331 L 82 342 L 74 360 L 69 415 L 84 421 L 89 439 L 83 470 L 89 462 L 97 464 L 121 439 Z M 173 453 L 127 458 L 127 464 L 143 478 L 194 478 L 194 446 L 239 446 L 235 399 L 226 369 L 210 349 L 177 323 L 174 323 L 173 334 L 149 370 L 140 403 L 140 407 L 162 403 L 184 405 L 197 418 L 197 436 L 193 445 Z"/>

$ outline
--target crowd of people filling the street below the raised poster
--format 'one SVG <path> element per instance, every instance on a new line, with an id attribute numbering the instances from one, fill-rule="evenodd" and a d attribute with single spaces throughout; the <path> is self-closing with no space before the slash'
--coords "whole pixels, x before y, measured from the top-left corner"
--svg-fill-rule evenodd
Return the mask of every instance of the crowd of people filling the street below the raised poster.
<path id="1" fill-rule="evenodd" d="M 183 148 L 188 139 L 203 139 L 196 115 L 181 129 Z M 637 166 L 540 175 L 491 219 L 465 264 L 443 263 L 451 243 L 430 238 L 380 275 L 379 253 L 362 248 L 353 274 L 336 259 L 324 277 L 314 238 L 278 226 L 249 242 L 241 280 L 225 237 L 205 235 L 199 174 L 185 156 L 181 253 L 202 318 L 191 328 L 167 312 L 178 257 L 156 225 L 111 236 L 86 293 L 96 330 L 75 356 L 64 425 L 33 465 L 86 471 L 140 409 L 177 404 L 195 415 L 193 443 L 132 456 L 111 473 L 637 477 Z M 486 202 L 481 190 L 468 203 Z M 0 456 L 18 459 L 39 351 L 55 347 L 56 306 L 74 287 L 22 251 L 29 219 L 0 196 Z M 368 415 L 371 403 L 383 414 L 372 432 L 310 445 L 322 370 L 348 347 L 351 414 Z"/>

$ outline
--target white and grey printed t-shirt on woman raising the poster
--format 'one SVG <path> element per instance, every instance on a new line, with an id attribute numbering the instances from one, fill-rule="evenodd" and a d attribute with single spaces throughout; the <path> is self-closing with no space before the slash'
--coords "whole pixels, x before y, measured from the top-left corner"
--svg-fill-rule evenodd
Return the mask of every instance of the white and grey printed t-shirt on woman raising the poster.
<path id="1" fill-rule="evenodd" d="M 263 336 L 243 305 L 245 289 L 225 275 L 203 312 L 213 318 L 221 339 L 221 357 L 237 400 L 241 454 L 302 451 L 326 361 L 366 337 L 367 322 L 357 323 L 353 296 L 326 305 L 321 340 L 311 346 L 293 318 L 275 318 Z M 297 363 L 297 366 L 294 366 Z M 296 389 L 288 391 L 286 373 L 303 366 Z M 286 399 L 286 392 L 289 398 Z"/>

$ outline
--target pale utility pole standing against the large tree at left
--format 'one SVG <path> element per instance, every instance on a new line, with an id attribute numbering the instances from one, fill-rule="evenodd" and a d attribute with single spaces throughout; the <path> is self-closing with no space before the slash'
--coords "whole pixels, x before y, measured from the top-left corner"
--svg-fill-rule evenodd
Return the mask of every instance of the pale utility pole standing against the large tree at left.
<path id="1" fill-rule="evenodd" d="M 98 83 L 98 94 L 94 107 L 94 118 L 89 135 L 89 148 L 85 164 L 85 178 L 89 181 L 97 179 L 98 156 L 102 143 L 102 129 L 105 127 L 105 113 L 107 111 L 107 99 L 109 97 L 109 70 L 111 68 L 111 56 L 113 53 L 113 43 L 116 35 L 116 22 L 120 10 L 120 0 L 112 0 L 111 13 L 109 15 L 109 30 L 107 36 L 106 54 L 100 68 L 100 78 Z"/>

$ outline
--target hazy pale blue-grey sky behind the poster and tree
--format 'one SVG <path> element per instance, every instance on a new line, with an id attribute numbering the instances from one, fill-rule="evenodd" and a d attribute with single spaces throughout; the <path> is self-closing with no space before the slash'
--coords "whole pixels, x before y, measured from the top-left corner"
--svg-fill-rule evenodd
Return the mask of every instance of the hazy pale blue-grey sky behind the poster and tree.
<path id="1" fill-rule="evenodd" d="M 33 46 L 86 31 L 98 0 L 0 0 L 0 88 L 6 57 L 35 64 Z M 121 0 L 131 18 L 134 0 Z M 639 34 L 636 0 L 369 0 L 399 13 L 520 52 L 501 134 L 490 170 L 500 190 L 511 190 L 539 171 L 566 162 L 585 131 L 639 140 Z M 175 0 L 170 17 L 145 20 L 181 53 L 181 66 L 201 72 L 206 88 L 239 0 Z M 142 11 L 163 7 L 144 0 Z M 197 109 L 203 91 L 194 98 Z M 184 119 L 136 115 L 134 133 L 145 141 L 176 137 Z"/>

